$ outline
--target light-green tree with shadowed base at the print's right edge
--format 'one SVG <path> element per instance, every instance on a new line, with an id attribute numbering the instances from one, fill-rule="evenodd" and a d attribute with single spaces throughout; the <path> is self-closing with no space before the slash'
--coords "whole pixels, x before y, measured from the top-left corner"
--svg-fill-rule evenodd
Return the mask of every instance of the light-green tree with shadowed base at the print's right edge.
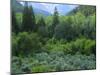
<path id="1" fill-rule="evenodd" d="M 89 16 L 84 22 L 83 35 L 90 39 L 96 39 L 96 16 Z"/>

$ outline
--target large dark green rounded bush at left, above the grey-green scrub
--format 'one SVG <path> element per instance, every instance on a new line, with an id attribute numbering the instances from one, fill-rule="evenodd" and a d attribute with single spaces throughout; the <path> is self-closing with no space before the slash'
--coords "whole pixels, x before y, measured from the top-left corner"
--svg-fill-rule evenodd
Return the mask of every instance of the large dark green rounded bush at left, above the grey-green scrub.
<path id="1" fill-rule="evenodd" d="M 13 51 L 18 51 L 18 54 L 28 55 L 33 52 L 41 52 L 41 42 L 36 33 L 22 32 L 13 37 Z M 20 51 L 19 51 L 20 50 Z M 16 53 L 16 52 L 14 52 Z"/>

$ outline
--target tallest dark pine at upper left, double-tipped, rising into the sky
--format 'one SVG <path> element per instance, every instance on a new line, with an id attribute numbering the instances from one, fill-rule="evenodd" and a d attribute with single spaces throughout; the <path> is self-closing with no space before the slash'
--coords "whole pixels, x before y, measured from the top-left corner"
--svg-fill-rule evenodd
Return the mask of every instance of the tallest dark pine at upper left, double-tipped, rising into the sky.
<path id="1" fill-rule="evenodd" d="M 23 10 L 22 31 L 34 31 L 35 29 L 35 15 L 32 6 L 25 2 Z"/>

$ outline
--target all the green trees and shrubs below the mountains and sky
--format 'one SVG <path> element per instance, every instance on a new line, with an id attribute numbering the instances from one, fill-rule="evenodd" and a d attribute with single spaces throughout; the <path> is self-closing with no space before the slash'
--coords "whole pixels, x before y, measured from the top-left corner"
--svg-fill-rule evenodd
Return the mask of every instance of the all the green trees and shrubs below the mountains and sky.
<path id="1" fill-rule="evenodd" d="M 95 6 L 78 6 L 66 16 L 57 7 L 51 16 L 23 7 L 23 13 L 12 10 L 12 73 L 96 68 Z"/>

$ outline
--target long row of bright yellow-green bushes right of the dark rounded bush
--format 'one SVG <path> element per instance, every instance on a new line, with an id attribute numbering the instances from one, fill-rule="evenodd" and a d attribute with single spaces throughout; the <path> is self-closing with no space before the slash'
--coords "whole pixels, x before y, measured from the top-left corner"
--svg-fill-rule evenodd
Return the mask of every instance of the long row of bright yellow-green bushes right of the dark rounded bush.
<path id="1" fill-rule="evenodd" d="M 62 40 L 50 39 L 44 46 L 44 50 L 47 52 L 64 52 L 65 54 L 84 54 L 90 55 L 96 53 L 95 40 L 86 38 L 79 38 L 71 42 L 63 42 Z"/>

